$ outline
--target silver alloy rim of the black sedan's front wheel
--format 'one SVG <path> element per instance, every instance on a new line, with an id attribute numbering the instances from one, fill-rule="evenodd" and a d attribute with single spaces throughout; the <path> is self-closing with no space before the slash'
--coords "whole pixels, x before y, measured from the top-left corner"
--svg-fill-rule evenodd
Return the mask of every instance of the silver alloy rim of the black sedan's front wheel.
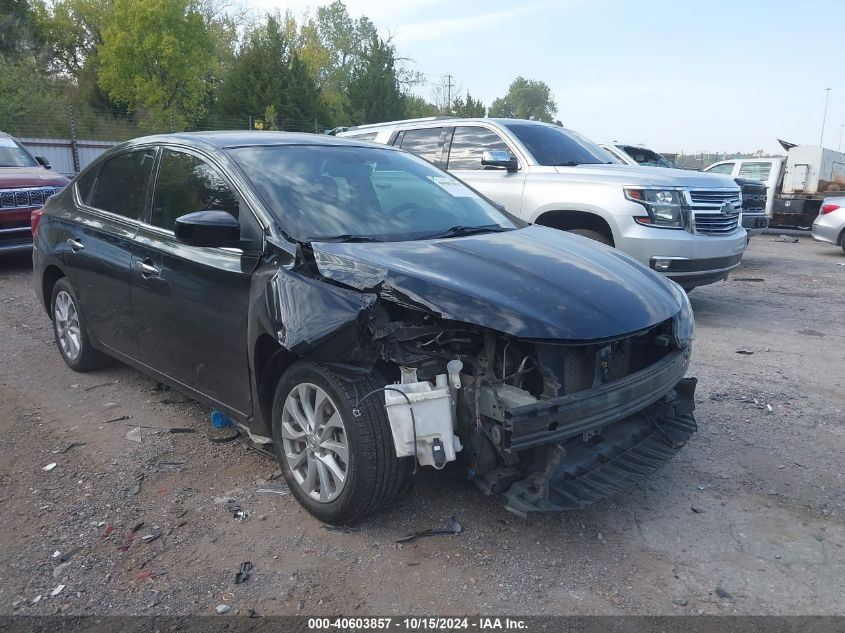
<path id="1" fill-rule="evenodd" d="M 282 409 L 282 446 L 296 483 L 315 501 L 334 501 L 346 485 L 349 444 L 343 419 L 317 385 L 294 387 Z"/>

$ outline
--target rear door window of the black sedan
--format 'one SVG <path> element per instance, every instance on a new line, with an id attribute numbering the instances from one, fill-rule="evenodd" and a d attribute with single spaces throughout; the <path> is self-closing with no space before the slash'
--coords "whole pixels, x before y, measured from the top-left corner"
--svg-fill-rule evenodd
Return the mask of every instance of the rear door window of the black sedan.
<path id="1" fill-rule="evenodd" d="M 153 149 L 126 152 L 108 159 L 97 175 L 91 206 L 132 220 L 140 219 L 154 159 Z"/>

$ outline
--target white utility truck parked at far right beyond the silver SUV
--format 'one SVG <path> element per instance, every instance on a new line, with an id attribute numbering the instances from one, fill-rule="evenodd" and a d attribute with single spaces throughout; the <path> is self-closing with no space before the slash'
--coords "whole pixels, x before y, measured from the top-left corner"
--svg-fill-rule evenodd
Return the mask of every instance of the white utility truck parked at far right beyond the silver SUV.
<path id="1" fill-rule="evenodd" d="M 807 228 L 825 197 L 845 195 L 845 154 L 817 145 L 779 142 L 787 150 L 785 158 L 723 160 L 704 171 L 763 181 L 771 223 Z"/>

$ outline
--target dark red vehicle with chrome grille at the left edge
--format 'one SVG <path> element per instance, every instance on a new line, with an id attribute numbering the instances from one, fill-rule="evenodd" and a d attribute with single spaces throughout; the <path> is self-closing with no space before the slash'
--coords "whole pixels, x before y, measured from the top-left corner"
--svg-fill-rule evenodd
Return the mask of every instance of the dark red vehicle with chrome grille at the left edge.
<path id="1" fill-rule="evenodd" d="M 46 158 L 0 132 L 0 254 L 32 249 L 32 212 L 68 182 Z"/>

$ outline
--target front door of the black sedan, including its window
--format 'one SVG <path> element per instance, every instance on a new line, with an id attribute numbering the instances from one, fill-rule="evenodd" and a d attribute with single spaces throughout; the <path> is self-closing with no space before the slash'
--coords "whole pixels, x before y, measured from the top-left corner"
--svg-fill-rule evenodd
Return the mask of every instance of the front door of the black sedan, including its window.
<path id="1" fill-rule="evenodd" d="M 144 364 L 228 407 L 251 412 L 247 316 L 255 260 L 236 249 L 186 245 L 174 221 L 227 211 L 255 222 L 230 181 L 206 158 L 163 147 L 151 211 L 132 260 L 132 306 Z M 243 209 L 243 210 L 241 210 Z"/>

